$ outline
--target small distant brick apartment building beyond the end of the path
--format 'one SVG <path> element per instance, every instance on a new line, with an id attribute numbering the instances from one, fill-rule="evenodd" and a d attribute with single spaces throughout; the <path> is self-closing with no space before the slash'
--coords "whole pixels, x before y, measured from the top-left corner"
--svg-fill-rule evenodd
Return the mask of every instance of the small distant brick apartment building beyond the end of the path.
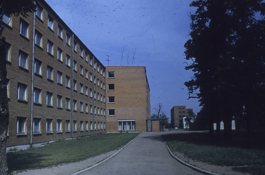
<path id="1" fill-rule="evenodd" d="M 171 113 L 171 123 L 173 123 L 175 128 L 184 128 L 186 124 L 186 117 L 189 116 L 186 106 L 173 106 L 170 110 Z M 193 111 L 193 109 L 191 109 Z"/>

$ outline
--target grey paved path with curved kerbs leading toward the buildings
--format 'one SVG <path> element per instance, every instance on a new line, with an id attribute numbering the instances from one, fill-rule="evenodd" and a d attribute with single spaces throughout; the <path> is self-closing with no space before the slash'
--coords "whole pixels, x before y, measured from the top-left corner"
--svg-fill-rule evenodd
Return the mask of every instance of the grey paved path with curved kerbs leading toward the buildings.
<path id="1" fill-rule="evenodd" d="M 141 133 L 117 155 L 80 174 L 201 175 L 170 156 L 161 134 L 165 132 Z"/>

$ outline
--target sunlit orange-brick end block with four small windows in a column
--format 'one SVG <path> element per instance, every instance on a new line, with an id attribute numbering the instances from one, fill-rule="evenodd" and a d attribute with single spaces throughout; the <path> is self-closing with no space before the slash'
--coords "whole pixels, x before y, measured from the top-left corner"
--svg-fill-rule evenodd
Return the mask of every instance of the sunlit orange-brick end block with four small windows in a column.
<path id="1" fill-rule="evenodd" d="M 150 127 L 150 89 L 143 66 L 106 66 L 108 132 Z"/>

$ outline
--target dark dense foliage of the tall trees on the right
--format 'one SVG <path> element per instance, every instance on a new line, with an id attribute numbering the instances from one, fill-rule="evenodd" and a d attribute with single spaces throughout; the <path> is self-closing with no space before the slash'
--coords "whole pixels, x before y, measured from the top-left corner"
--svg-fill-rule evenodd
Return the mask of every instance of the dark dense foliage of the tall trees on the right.
<path id="1" fill-rule="evenodd" d="M 196 0 L 190 6 L 197 11 L 190 14 L 191 39 L 185 44 L 185 69 L 194 71 L 185 82 L 189 98 L 199 99 L 210 128 L 224 121 L 230 136 L 232 118 L 245 108 L 251 138 L 253 109 L 264 108 L 264 3 Z"/>

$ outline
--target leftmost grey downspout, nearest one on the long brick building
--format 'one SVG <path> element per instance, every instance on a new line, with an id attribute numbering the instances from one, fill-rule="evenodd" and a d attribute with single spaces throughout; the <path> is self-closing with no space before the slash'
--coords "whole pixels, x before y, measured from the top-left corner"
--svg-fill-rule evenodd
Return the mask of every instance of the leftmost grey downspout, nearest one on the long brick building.
<path id="1" fill-rule="evenodd" d="M 35 2 L 36 4 L 36 2 Z M 30 117 L 31 117 L 31 122 L 30 122 L 30 148 L 32 148 L 32 134 L 33 134 L 33 77 L 34 77 L 34 47 L 35 47 L 35 13 L 33 13 L 33 46 L 32 46 L 32 77 L 31 77 L 31 109 L 30 109 Z"/>

